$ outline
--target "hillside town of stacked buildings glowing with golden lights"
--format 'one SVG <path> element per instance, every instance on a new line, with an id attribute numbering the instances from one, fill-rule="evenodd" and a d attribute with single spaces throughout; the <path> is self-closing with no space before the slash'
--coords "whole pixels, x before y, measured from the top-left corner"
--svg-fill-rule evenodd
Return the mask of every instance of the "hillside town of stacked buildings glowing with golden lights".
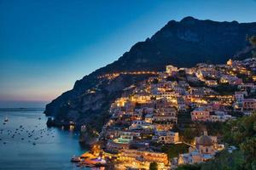
<path id="1" fill-rule="evenodd" d="M 255 66 L 254 58 L 230 59 L 224 65 L 166 65 L 166 71 L 150 72 L 113 102 L 108 122 L 79 166 L 108 162 L 109 169 L 149 169 L 154 163 L 167 170 L 236 150 L 209 125 L 254 114 Z M 98 78 L 111 81 L 119 74 Z"/>

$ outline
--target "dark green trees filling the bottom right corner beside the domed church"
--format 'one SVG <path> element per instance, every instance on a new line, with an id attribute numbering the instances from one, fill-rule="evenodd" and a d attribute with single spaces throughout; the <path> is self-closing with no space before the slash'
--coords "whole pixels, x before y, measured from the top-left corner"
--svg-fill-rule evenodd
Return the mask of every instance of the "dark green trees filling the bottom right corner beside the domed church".
<path id="1" fill-rule="evenodd" d="M 216 129 L 223 136 L 224 143 L 236 145 L 238 149 L 232 153 L 223 150 L 212 161 L 180 166 L 178 170 L 256 170 L 256 113 L 223 124 L 207 124 L 206 127 L 209 133 L 214 133 L 212 129 L 218 127 Z"/>

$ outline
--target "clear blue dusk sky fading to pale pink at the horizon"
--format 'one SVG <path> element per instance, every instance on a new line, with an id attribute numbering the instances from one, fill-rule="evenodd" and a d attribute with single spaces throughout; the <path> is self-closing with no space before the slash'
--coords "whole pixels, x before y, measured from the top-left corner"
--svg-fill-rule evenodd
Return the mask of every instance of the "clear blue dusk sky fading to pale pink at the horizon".
<path id="1" fill-rule="evenodd" d="M 255 0 L 0 0 L 0 107 L 44 107 L 169 20 L 256 21 Z"/>

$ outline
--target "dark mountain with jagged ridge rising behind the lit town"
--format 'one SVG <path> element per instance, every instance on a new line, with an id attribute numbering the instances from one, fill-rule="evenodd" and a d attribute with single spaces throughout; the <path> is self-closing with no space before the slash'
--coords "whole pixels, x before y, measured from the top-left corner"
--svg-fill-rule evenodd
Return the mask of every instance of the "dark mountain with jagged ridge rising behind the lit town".
<path id="1" fill-rule="evenodd" d="M 246 48 L 247 37 L 252 35 L 256 35 L 256 22 L 240 24 L 192 17 L 171 20 L 153 37 L 137 42 L 112 64 L 75 82 L 72 90 L 46 105 L 44 112 L 55 116 L 56 125 L 73 121 L 100 129 L 108 118 L 109 105 L 122 94 L 123 88 L 147 76 L 123 75 L 112 80 L 99 76 L 119 71 L 163 71 L 165 65 L 170 64 L 183 67 L 206 61 L 224 63 Z"/>

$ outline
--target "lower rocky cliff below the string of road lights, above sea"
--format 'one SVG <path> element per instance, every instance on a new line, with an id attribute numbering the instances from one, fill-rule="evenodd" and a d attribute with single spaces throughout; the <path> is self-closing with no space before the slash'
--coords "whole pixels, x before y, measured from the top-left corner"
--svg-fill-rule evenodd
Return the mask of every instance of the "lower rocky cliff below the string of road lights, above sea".
<path id="1" fill-rule="evenodd" d="M 89 76 L 90 77 L 90 76 Z M 133 77 L 120 75 L 111 80 L 107 78 L 90 77 L 82 82 L 77 82 L 73 90 L 62 94 L 59 98 L 46 105 L 45 114 L 54 116 L 55 121 L 51 126 L 67 126 L 70 122 L 76 125 L 90 125 L 97 130 L 102 128 L 105 120 L 108 120 L 108 110 L 114 99 L 124 93 L 123 89 L 131 84 L 143 81 L 148 75 Z M 90 80 L 91 82 L 87 82 Z M 87 82 L 87 84 L 86 84 Z M 89 86 L 90 83 L 90 86 Z"/>

